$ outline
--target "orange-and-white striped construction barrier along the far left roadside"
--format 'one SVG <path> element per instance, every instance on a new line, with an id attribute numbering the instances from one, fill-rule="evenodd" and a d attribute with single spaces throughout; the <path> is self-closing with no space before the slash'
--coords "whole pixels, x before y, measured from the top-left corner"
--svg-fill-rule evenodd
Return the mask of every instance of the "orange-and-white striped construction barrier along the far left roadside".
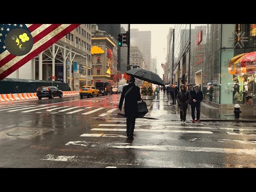
<path id="1" fill-rule="evenodd" d="M 76 95 L 79 91 L 62 91 L 63 96 Z M 10 94 L 0 94 L 0 102 L 4 101 L 17 101 L 25 99 L 38 99 L 36 93 L 10 93 Z"/>

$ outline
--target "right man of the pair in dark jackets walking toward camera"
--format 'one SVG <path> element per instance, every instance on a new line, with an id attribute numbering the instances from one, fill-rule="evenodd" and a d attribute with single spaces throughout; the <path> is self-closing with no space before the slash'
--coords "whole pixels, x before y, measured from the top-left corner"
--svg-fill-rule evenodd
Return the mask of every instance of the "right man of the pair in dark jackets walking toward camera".
<path id="1" fill-rule="evenodd" d="M 200 123 L 200 104 L 203 100 L 203 92 L 199 90 L 200 85 L 196 84 L 195 88 L 190 91 L 191 97 L 191 116 L 192 123 L 195 123 L 195 108 L 196 108 L 196 121 Z"/>

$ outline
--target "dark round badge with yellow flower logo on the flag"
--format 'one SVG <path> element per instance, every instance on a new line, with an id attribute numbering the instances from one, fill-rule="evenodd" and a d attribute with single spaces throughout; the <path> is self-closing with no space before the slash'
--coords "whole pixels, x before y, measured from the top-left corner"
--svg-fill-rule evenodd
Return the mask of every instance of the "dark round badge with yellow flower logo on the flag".
<path id="1" fill-rule="evenodd" d="M 13 29 L 5 37 L 6 49 L 15 56 L 29 53 L 33 44 L 33 37 L 26 29 Z"/>

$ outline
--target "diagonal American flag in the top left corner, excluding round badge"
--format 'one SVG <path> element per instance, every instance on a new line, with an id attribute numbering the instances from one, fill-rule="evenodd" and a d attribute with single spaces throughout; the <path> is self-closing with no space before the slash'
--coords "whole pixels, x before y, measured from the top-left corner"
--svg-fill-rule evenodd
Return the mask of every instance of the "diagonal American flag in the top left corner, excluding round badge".
<path id="1" fill-rule="evenodd" d="M 0 81 L 79 25 L 81 24 L 0 24 Z M 15 28 L 27 29 L 33 36 L 33 48 L 26 55 L 15 56 L 6 50 L 5 37 Z"/>

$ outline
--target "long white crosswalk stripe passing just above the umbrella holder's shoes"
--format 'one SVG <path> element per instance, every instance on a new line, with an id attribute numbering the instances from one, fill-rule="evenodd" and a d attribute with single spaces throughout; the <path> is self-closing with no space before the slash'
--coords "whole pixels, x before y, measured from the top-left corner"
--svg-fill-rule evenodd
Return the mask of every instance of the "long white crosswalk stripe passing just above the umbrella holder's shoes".
<path id="1" fill-rule="evenodd" d="M 93 128 L 92 131 L 126 131 L 126 129 L 114 129 L 114 128 Z M 134 131 L 148 131 L 148 132 L 168 132 L 168 133 L 213 133 L 211 131 L 186 131 L 186 130 L 149 130 L 149 129 L 135 129 Z"/>

